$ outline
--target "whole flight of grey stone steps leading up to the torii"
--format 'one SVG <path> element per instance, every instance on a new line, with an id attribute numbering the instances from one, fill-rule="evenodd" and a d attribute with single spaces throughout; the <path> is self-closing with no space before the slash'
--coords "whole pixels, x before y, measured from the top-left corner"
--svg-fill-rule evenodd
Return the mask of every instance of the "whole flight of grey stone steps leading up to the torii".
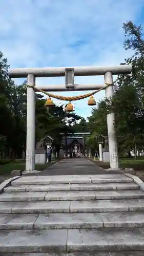
<path id="1" fill-rule="evenodd" d="M 0 255 L 143 256 L 144 192 L 102 172 L 12 181 L 0 195 Z"/>

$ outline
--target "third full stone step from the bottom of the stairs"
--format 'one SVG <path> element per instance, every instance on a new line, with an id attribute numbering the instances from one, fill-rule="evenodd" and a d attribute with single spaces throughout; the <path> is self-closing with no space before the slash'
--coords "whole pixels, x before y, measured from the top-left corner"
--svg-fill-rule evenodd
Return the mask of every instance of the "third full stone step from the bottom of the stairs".
<path id="1" fill-rule="evenodd" d="M 0 214 L 124 211 L 144 211 L 144 200 L 26 201 L 0 203 Z"/>

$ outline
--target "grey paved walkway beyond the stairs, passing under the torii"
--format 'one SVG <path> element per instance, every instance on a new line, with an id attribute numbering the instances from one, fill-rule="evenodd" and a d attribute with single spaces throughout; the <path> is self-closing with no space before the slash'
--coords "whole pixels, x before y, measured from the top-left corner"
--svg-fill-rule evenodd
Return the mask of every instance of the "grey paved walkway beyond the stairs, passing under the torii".
<path id="1" fill-rule="evenodd" d="M 118 171 L 107 172 L 86 158 L 67 158 L 36 174 L 41 175 L 100 175 L 121 174 Z M 25 174 L 27 175 L 27 174 Z M 35 173 L 28 174 L 35 176 Z"/>

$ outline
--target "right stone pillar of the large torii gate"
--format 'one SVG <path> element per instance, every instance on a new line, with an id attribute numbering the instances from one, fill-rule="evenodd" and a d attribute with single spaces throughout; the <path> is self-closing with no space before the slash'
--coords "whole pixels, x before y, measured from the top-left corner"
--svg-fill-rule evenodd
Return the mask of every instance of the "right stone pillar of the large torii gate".
<path id="1" fill-rule="evenodd" d="M 105 74 L 105 84 L 109 84 L 109 86 L 106 88 L 106 97 L 108 99 L 111 99 L 113 97 L 113 76 L 111 72 L 107 72 Z M 107 125 L 109 138 L 110 167 L 111 169 L 119 169 L 114 113 L 110 113 L 107 115 Z"/>

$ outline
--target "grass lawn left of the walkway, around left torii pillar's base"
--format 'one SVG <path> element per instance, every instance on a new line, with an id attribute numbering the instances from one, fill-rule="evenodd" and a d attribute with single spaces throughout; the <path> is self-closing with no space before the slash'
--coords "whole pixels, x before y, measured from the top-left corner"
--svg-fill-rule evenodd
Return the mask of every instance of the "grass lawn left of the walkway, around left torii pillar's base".
<path id="1" fill-rule="evenodd" d="M 51 163 L 46 163 L 46 164 L 35 164 L 35 169 L 36 170 L 44 170 L 48 166 L 53 165 L 59 161 L 58 159 L 52 159 Z M 17 160 L 17 161 L 11 161 L 6 164 L 0 165 L 0 176 L 1 175 L 11 175 L 12 170 L 25 170 L 25 161 L 23 160 Z"/>

